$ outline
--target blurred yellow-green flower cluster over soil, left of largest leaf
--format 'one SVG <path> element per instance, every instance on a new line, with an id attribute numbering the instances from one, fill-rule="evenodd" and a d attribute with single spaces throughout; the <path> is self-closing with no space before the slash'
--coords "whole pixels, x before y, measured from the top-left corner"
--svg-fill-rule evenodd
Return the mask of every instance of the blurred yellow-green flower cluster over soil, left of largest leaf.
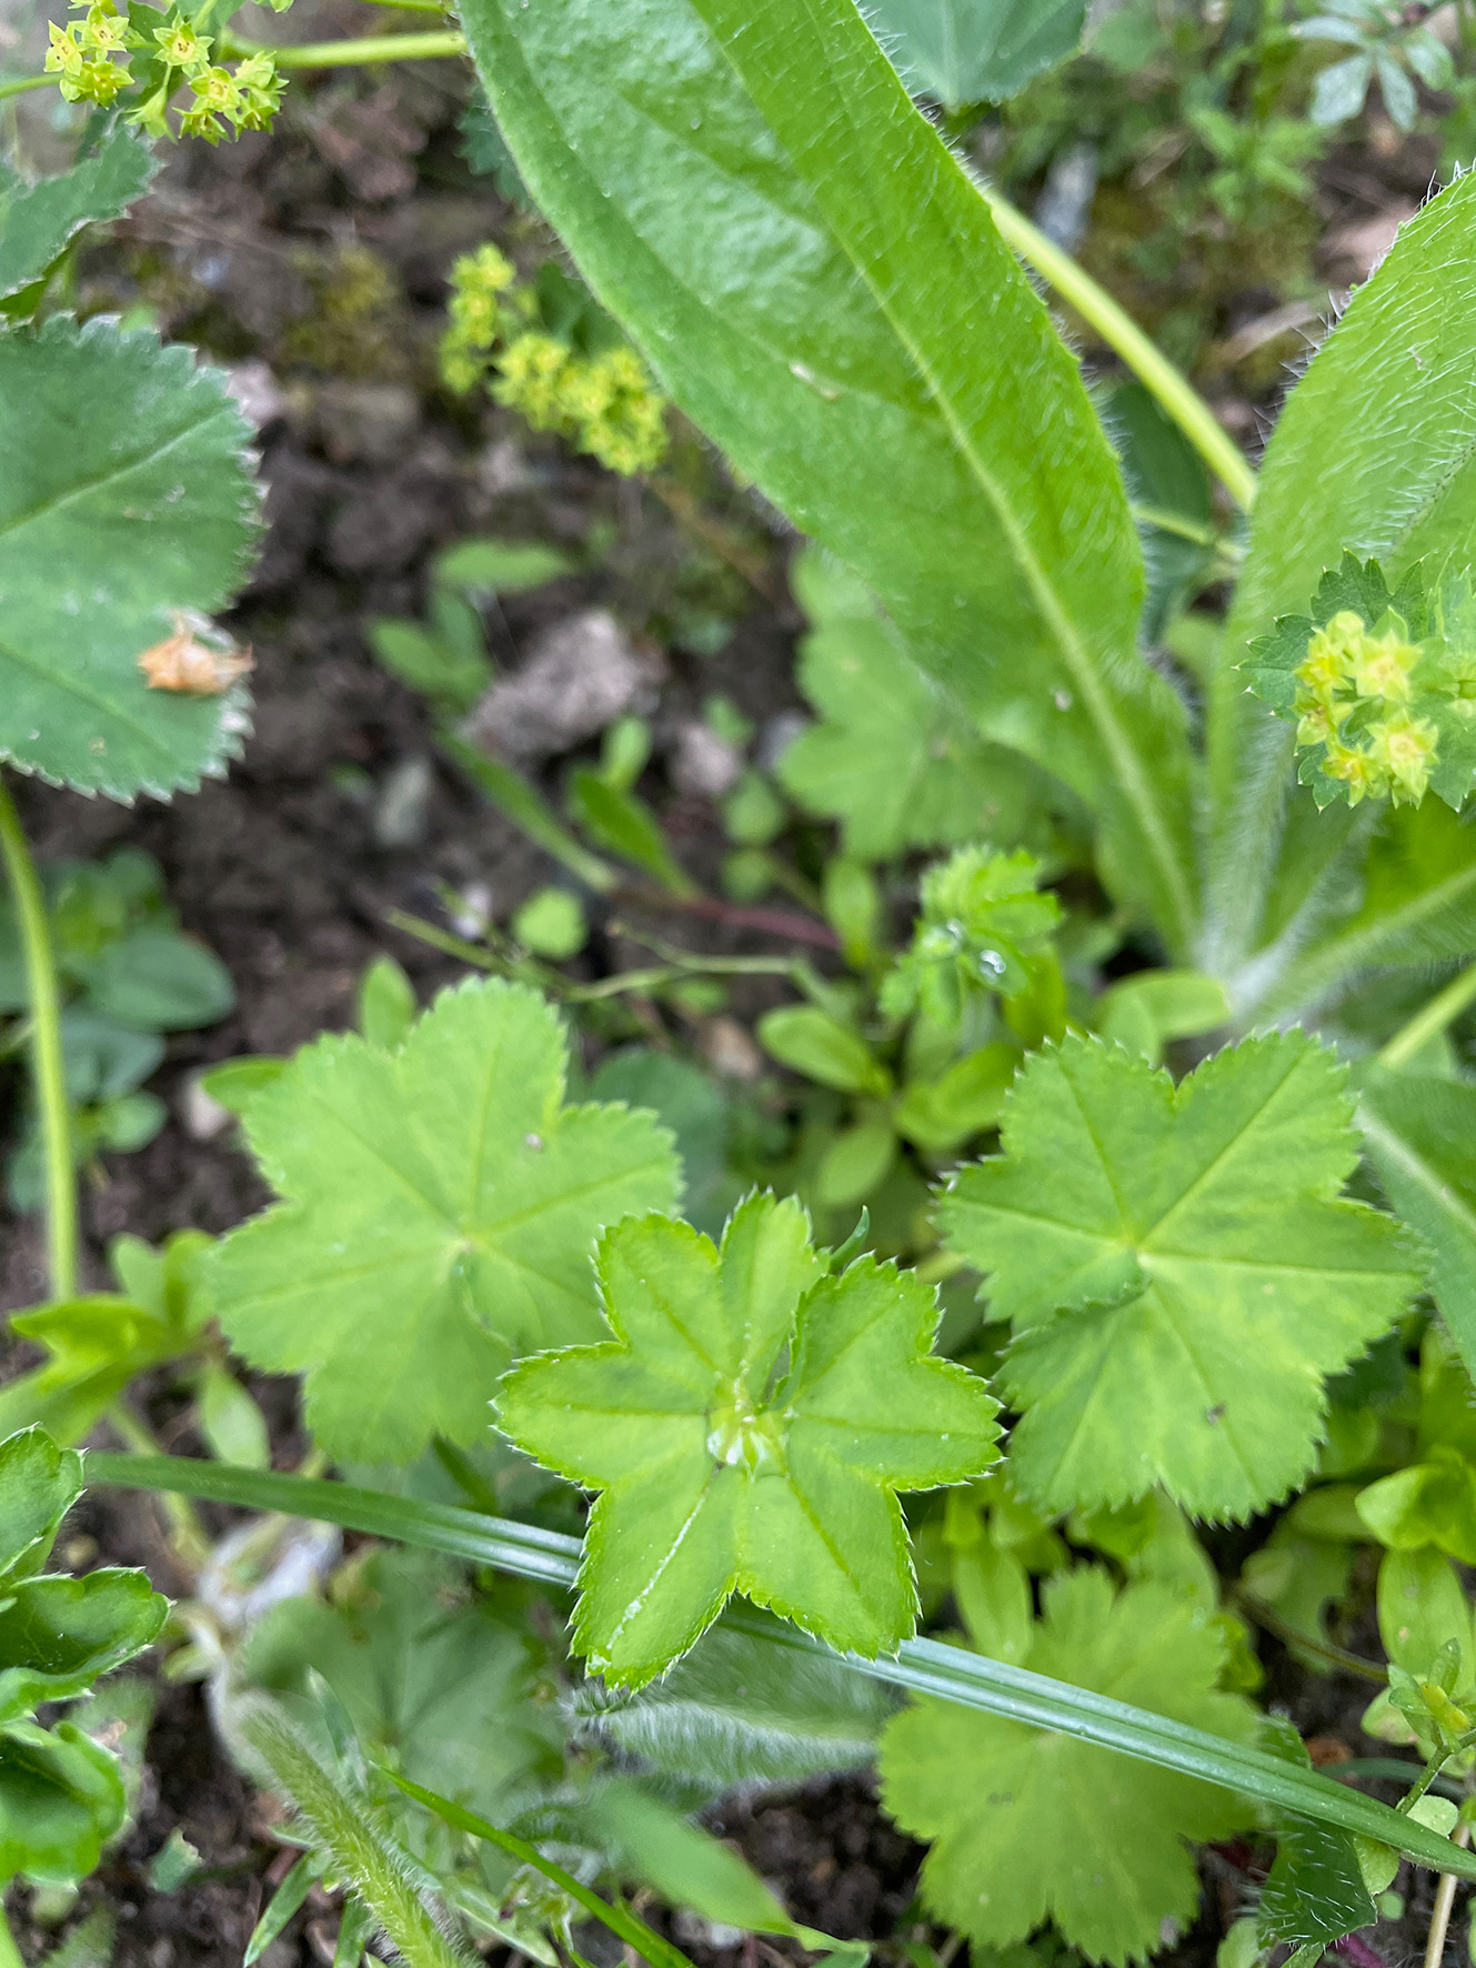
<path id="1" fill-rule="evenodd" d="M 451 270 L 441 380 L 464 396 L 486 382 L 492 398 L 535 431 L 557 431 L 600 464 L 630 476 L 653 470 L 667 449 L 665 398 L 634 348 L 581 354 L 531 327 L 537 303 L 516 285 L 496 246 L 464 254 Z"/>

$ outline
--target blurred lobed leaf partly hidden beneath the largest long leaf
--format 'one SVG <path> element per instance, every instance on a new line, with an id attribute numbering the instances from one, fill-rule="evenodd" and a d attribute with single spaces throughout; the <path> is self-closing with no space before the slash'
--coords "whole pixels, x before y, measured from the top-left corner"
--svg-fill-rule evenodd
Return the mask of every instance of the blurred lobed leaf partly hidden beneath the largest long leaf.
<path id="1" fill-rule="evenodd" d="M 860 860 L 978 834 L 1019 838 L 1047 781 L 968 728 L 842 573 L 811 547 L 789 575 L 813 624 L 797 677 L 819 722 L 785 748 L 779 783 L 809 813 L 838 821 L 846 854 Z"/>

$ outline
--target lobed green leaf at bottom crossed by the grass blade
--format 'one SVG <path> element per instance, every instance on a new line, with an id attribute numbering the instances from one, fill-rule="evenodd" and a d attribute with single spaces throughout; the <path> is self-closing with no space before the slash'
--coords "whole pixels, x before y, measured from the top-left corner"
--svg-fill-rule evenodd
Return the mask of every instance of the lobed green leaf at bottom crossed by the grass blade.
<path id="1" fill-rule="evenodd" d="M 1023 1665 L 1238 1742 L 1256 1718 L 1216 1692 L 1224 1633 L 1157 1584 L 1114 1598 L 1104 1572 L 1043 1586 Z M 882 1736 L 882 1801 L 931 1838 L 923 1899 L 980 1948 L 1047 1919 L 1090 1960 L 1130 1962 L 1187 1925 L 1199 1877 L 1187 1838 L 1222 1838 L 1248 1807 L 1177 1771 L 951 1702 L 919 1700 Z"/>

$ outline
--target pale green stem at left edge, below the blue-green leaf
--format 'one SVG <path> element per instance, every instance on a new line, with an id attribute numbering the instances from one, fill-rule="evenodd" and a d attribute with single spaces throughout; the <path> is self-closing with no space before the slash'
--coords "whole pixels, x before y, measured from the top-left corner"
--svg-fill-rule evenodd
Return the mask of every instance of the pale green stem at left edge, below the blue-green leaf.
<path id="1" fill-rule="evenodd" d="M 31 1071 L 35 1110 L 41 1118 L 45 1153 L 45 1228 L 51 1297 L 77 1297 L 77 1165 L 71 1151 L 71 1106 L 67 1067 L 61 1051 L 61 992 L 51 949 L 51 925 L 35 862 L 20 825 L 10 789 L 0 781 L 0 860 L 6 864 L 10 893 L 26 958 L 26 990 L 31 1002 Z"/>

